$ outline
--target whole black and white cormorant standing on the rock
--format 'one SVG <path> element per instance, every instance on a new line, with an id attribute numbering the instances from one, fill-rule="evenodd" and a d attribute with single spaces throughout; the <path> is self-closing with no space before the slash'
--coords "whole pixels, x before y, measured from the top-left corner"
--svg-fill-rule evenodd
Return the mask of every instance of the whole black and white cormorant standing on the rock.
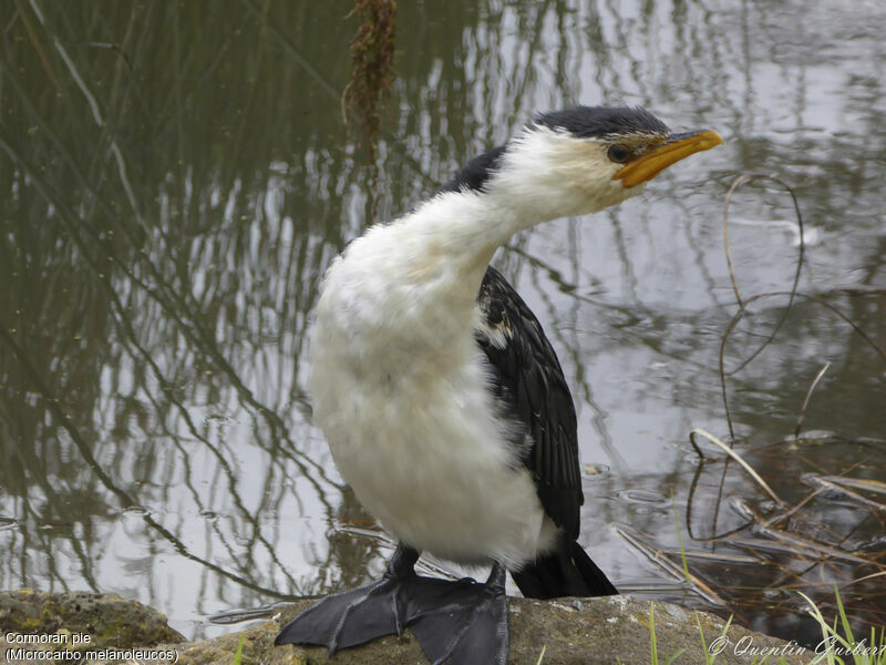
<path id="1" fill-rule="evenodd" d="M 577 541 L 576 411 L 557 355 L 490 263 L 514 234 L 616 205 L 720 143 L 639 106 L 538 113 L 332 260 L 310 338 L 313 420 L 398 545 L 381 580 L 326 597 L 276 644 L 334 654 L 409 626 L 435 665 L 504 665 L 507 572 L 527 597 L 618 593 Z M 488 579 L 419 575 L 421 552 L 491 565 Z"/>

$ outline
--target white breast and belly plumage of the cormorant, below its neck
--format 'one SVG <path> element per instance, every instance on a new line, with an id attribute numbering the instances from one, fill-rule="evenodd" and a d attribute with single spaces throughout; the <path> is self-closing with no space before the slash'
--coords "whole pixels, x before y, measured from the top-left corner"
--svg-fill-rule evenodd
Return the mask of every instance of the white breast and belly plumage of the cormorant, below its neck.
<path id="1" fill-rule="evenodd" d="M 310 347 L 315 420 L 392 535 L 457 562 L 518 566 L 547 549 L 553 524 L 473 338 L 494 246 L 464 260 L 409 224 L 371 229 L 327 273 Z"/>

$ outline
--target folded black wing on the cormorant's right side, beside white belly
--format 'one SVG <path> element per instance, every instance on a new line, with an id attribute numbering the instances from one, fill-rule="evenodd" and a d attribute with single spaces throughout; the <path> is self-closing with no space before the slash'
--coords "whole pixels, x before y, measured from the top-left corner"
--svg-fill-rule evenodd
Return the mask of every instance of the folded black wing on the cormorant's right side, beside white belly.
<path id="1" fill-rule="evenodd" d="M 515 444 L 530 437 L 523 462 L 535 479 L 542 507 L 575 540 L 585 497 L 575 405 L 557 355 L 526 303 L 492 266 L 477 305 L 488 330 L 478 328 L 475 338 L 490 361 L 493 390 L 506 415 L 526 428 Z"/>

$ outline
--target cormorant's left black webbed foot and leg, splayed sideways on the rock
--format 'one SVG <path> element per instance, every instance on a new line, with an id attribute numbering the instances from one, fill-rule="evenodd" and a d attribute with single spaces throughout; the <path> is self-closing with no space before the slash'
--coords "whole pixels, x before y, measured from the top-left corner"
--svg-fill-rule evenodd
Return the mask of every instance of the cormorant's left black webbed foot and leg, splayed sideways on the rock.
<path id="1" fill-rule="evenodd" d="M 419 552 L 403 544 L 378 582 L 323 598 L 286 624 L 275 644 L 320 644 L 330 655 L 375 637 L 400 634 L 406 624 L 406 597 L 419 583 Z"/>

